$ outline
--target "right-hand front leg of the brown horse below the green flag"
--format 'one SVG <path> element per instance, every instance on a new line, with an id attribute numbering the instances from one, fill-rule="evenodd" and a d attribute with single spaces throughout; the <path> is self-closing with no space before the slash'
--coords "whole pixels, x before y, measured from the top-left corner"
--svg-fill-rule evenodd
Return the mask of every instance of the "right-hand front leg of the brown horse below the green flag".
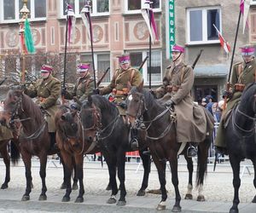
<path id="1" fill-rule="evenodd" d="M 45 177 L 46 177 L 46 164 L 47 164 L 47 153 L 41 153 L 41 155 L 39 156 L 40 159 L 40 177 L 42 180 L 42 191 L 41 194 L 39 196 L 38 200 L 46 200 L 47 196 L 46 196 L 46 191 L 47 191 L 47 187 L 45 184 Z"/>

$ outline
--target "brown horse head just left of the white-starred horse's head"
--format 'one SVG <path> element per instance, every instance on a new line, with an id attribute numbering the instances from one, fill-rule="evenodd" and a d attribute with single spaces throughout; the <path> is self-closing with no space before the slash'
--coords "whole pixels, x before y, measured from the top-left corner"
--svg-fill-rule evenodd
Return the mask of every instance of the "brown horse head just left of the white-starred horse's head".
<path id="1" fill-rule="evenodd" d="M 84 101 L 79 117 L 85 139 L 88 139 L 90 142 L 94 141 L 96 139 L 96 132 L 102 128 L 102 113 L 93 103 L 90 95 L 88 96 L 88 101 Z"/>

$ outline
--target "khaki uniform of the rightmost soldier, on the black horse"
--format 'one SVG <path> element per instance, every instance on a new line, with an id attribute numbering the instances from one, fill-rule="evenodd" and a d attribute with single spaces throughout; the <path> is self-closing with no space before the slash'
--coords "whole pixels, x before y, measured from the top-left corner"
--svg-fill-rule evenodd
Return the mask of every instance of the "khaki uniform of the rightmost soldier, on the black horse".
<path id="1" fill-rule="evenodd" d="M 224 129 L 225 118 L 227 117 L 227 114 L 231 112 L 231 110 L 236 106 L 236 103 L 238 103 L 241 100 L 242 91 L 235 89 L 235 83 L 242 83 L 242 84 L 245 84 L 245 86 L 247 87 L 248 84 L 253 83 L 255 81 L 255 77 L 254 77 L 255 72 L 256 72 L 255 58 L 247 64 L 245 62 L 240 62 L 240 63 L 236 63 L 233 66 L 233 70 L 231 72 L 231 78 L 230 78 L 233 95 L 232 95 L 232 98 L 227 102 L 227 107 L 222 113 L 222 117 L 218 125 L 218 132 L 215 139 L 215 146 L 226 147 L 225 129 Z"/>

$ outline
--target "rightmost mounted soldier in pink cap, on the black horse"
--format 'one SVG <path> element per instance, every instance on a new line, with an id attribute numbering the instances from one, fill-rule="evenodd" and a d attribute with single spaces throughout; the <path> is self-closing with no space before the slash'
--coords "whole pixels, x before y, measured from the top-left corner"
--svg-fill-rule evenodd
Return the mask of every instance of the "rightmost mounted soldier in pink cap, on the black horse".
<path id="1" fill-rule="evenodd" d="M 222 113 L 218 126 L 218 132 L 215 139 L 216 153 L 228 154 L 225 141 L 224 123 L 231 110 L 241 100 L 241 93 L 248 84 L 255 82 L 256 60 L 254 58 L 254 47 L 245 45 L 241 48 L 243 61 L 236 63 L 231 72 L 231 78 L 228 91 L 224 91 L 224 97 L 227 97 L 227 107 Z"/>

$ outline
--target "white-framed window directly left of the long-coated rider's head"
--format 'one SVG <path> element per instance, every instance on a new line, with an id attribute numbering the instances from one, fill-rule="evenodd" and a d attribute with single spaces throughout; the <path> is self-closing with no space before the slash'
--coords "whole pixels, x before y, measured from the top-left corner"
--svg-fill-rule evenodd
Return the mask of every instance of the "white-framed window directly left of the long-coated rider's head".
<path id="1" fill-rule="evenodd" d="M 138 68 L 142 61 L 148 56 L 149 53 L 146 51 L 143 52 L 131 52 L 131 66 Z M 140 71 L 143 74 L 143 79 L 145 83 L 149 83 L 149 60 L 147 60 L 148 66 L 143 66 L 143 69 Z M 162 82 L 161 75 L 161 52 L 160 50 L 153 50 L 151 52 L 151 83 L 158 84 Z"/>

